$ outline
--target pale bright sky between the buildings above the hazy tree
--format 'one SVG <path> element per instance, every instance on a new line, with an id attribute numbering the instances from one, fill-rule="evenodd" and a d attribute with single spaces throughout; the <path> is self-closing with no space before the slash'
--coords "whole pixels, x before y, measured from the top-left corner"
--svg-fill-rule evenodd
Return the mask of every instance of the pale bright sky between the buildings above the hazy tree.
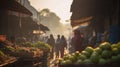
<path id="1" fill-rule="evenodd" d="M 60 18 L 61 22 L 65 23 L 65 20 L 69 20 L 71 13 L 70 7 L 73 0 L 29 0 L 31 5 L 37 10 L 44 8 L 50 9 L 55 12 Z"/>

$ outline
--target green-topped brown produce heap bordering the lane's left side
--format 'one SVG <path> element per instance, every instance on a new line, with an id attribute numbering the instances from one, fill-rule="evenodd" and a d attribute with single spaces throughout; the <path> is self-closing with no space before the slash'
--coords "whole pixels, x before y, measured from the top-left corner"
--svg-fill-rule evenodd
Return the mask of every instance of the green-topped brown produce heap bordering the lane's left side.
<path id="1" fill-rule="evenodd" d="M 18 65 L 24 67 L 38 67 L 47 65 L 50 48 L 43 42 L 31 43 L 25 42 L 13 53 L 14 56 L 20 57 Z M 49 46 L 50 47 L 50 46 Z"/>

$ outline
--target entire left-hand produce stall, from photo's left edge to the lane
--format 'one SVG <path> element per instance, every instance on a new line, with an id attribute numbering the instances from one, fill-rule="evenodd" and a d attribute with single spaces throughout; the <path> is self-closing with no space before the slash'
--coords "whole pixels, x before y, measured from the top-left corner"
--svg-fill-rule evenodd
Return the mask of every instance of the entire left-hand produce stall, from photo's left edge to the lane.
<path id="1" fill-rule="evenodd" d="M 46 66 L 50 48 L 43 42 L 25 42 L 21 45 L 13 45 L 9 41 L 0 42 L 0 67 Z"/>

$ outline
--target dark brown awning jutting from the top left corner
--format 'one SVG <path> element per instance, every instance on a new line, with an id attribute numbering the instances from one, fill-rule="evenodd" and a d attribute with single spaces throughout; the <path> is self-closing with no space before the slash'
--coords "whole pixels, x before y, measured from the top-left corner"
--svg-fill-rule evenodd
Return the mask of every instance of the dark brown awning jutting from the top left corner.
<path id="1" fill-rule="evenodd" d="M 27 8 L 25 8 L 15 0 L 0 0 L 0 9 L 11 10 L 21 12 L 27 15 L 32 15 L 32 13 Z"/>

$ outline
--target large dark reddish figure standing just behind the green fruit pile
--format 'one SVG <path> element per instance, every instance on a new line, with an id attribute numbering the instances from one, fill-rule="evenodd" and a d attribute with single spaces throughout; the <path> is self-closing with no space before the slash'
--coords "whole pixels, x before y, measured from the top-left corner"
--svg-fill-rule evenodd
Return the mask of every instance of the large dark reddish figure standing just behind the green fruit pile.
<path id="1" fill-rule="evenodd" d="M 74 37 L 72 38 L 72 41 L 75 51 L 82 51 L 84 49 L 83 38 L 80 30 L 74 30 Z"/>

